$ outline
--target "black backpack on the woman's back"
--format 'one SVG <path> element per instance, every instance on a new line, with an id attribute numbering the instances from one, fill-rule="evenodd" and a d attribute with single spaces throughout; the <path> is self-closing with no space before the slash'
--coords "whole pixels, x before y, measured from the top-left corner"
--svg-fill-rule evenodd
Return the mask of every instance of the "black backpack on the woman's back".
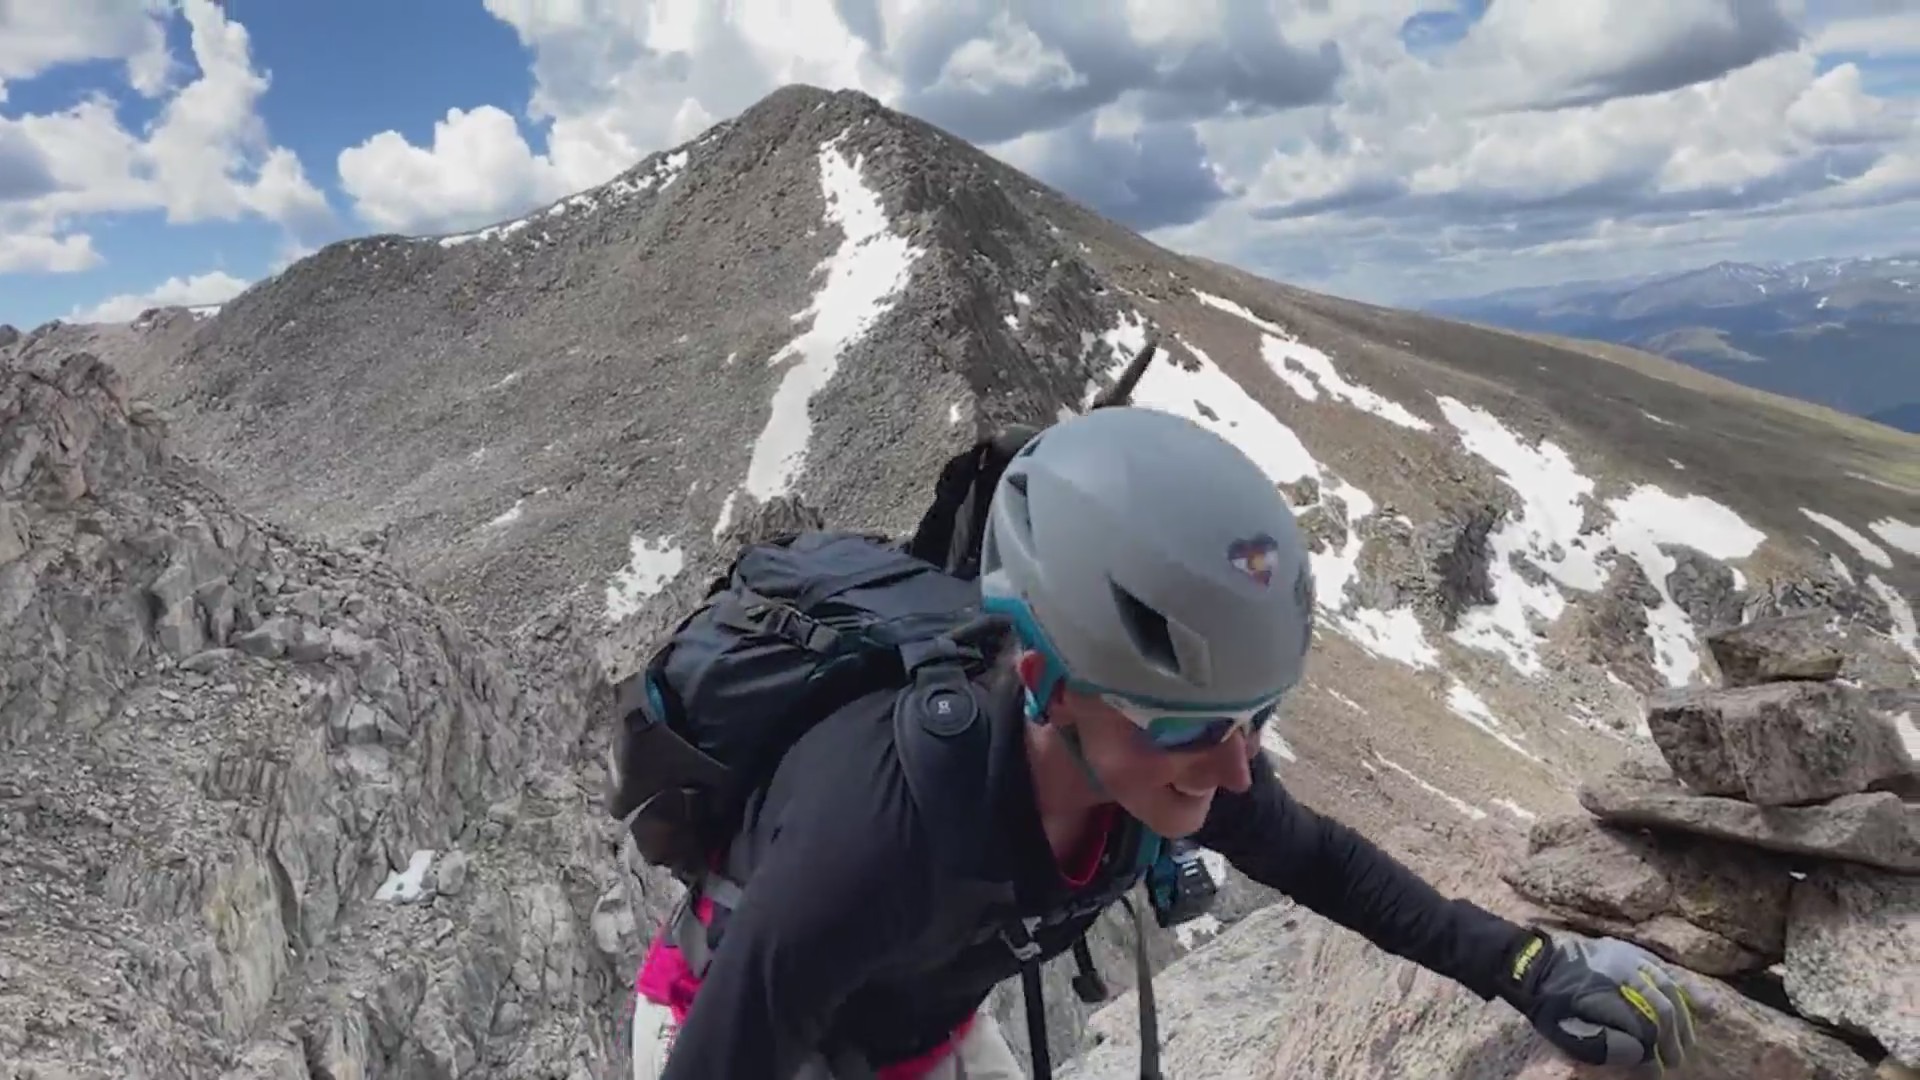
<path id="1" fill-rule="evenodd" d="M 641 857 L 705 876 L 747 798 L 833 709 L 966 675 L 995 630 L 972 582 L 883 536 L 810 530 L 749 544 L 616 688 L 607 811 L 632 815 Z"/>

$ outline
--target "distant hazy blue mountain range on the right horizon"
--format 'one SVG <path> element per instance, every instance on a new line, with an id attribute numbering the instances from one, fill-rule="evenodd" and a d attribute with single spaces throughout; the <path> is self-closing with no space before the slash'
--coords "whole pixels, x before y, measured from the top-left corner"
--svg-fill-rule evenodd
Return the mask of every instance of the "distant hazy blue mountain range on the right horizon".
<path id="1" fill-rule="evenodd" d="M 1628 344 L 1920 432 L 1920 254 L 1722 261 L 1442 300 L 1427 311 Z"/>

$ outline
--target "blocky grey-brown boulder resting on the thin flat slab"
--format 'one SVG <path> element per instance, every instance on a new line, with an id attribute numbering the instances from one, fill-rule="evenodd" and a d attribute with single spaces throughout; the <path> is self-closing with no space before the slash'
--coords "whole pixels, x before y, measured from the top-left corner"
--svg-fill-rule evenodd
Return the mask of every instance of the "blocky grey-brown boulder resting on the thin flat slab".
<path id="1" fill-rule="evenodd" d="M 1851 796 L 1914 771 L 1872 696 L 1839 682 L 1661 692 L 1647 726 L 1688 788 L 1759 805 Z"/>

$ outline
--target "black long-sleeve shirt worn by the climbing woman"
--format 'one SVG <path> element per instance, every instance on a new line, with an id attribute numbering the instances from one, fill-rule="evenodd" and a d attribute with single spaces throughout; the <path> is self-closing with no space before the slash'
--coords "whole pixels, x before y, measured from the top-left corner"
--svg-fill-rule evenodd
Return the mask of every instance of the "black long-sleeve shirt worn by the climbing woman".
<path id="1" fill-rule="evenodd" d="M 735 844 L 751 849 L 730 913 L 662 1080 L 785 1080 L 824 1043 L 887 1063 L 931 1049 L 1020 963 L 981 930 L 1004 922 L 954 878 L 895 753 L 891 698 L 829 717 L 783 757 Z M 1071 899 L 1041 830 L 1018 715 L 995 740 L 991 863 L 1021 913 Z M 1116 830 L 1094 882 L 1133 874 L 1137 826 Z M 1261 755 L 1250 790 L 1219 792 L 1194 836 L 1246 876 L 1386 951 L 1494 997 L 1521 928 L 1432 886 L 1281 786 Z M 1050 959 L 1094 915 L 1039 930 Z"/>

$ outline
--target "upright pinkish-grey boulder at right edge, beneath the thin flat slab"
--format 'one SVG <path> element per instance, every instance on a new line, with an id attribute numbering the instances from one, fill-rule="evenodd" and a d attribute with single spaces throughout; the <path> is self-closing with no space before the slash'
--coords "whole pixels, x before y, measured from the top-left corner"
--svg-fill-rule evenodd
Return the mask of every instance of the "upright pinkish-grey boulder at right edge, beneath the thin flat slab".
<path id="1" fill-rule="evenodd" d="M 1793 888 L 1786 992 L 1920 1067 L 1920 878 L 1832 865 Z"/>

